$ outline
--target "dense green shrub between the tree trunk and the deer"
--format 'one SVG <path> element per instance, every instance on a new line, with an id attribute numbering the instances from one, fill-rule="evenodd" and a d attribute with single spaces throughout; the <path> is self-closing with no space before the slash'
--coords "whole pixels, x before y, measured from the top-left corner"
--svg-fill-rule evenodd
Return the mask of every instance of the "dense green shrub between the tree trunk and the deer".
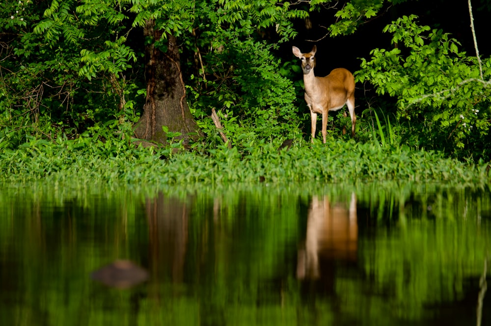
<path id="1" fill-rule="evenodd" d="M 281 75 L 281 61 L 274 59 L 271 48 L 265 42 L 240 41 L 231 34 L 227 47 L 205 57 L 207 69 L 215 76 L 195 83 L 190 102 L 209 142 L 217 134 L 206 118 L 212 108 L 218 111 L 233 146 L 294 138 L 300 133 L 293 83 Z"/>

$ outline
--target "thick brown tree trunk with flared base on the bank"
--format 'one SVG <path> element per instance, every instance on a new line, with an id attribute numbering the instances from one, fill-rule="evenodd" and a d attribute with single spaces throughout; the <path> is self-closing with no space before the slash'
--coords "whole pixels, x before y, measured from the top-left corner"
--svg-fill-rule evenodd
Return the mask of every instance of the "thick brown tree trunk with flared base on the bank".
<path id="1" fill-rule="evenodd" d="M 166 133 L 180 132 L 177 139 L 196 139 L 200 134 L 186 101 L 179 48 L 173 35 L 167 35 L 167 51 L 161 50 L 162 31 L 155 28 L 155 21 L 150 20 L 144 28 L 145 38 L 152 42 L 145 47 L 145 78 L 147 82 L 147 98 L 143 107 L 143 115 L 136 123 L 137 138 L 166 143 Z M 159 46 L 156 46 L 160 44 Z"/>

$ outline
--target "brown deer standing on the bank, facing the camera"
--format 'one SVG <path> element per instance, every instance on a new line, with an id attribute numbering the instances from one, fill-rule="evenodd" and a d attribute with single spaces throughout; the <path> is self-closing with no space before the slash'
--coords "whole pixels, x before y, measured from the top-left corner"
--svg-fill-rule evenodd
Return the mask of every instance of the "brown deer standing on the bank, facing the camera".
<path id="1" fill-rule="evenodd" d="M 301 59 L 303 71 L 303 83 L 305 86 L 305 101 L 310 110 L 312 123 L 312 138 L 314 143 L 317 114 L 322 114 L 322 138 L 326 144 L 327 114 L 329 111 L 337 111 L 346 104 L 351 116 L 351 137 L 355 137 L 355 77 L 344 68 L 336 68 L 325 77 L 316 77 L 314 67 L 316 65 L 314 45 L 308 53 L 302 53 L 299 48 L 293 47 L 293 54 Z M 346 112 L 345 112 L 346 117 Z M 343 134 L 346 132 L 343 129 Z"/>

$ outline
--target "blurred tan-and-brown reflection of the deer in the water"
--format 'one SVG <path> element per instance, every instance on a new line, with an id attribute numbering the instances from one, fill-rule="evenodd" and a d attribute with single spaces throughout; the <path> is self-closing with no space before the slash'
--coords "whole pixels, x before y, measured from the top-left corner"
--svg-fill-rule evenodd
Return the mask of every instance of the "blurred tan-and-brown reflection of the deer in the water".
<path id="1" fill-rule="evenodd" d="M 320 260 L 356 261 L 358 226 L 354 193 L 349 206 L 346 205 L 331 204 L 327 196 L 312 198 L 304 248 L 298 253 L 299 279 L 321 277 Z"/>

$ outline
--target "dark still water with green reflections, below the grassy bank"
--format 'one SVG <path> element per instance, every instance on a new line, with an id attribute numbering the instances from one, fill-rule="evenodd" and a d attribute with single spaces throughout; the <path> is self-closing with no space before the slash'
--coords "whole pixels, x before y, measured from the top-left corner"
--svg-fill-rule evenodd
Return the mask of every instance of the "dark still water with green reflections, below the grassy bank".
<path id="1" fill-rule="evenodd" d="M 239 189 L 3 191 L 1 325 L 491 325 L 489 188 Z"/>

